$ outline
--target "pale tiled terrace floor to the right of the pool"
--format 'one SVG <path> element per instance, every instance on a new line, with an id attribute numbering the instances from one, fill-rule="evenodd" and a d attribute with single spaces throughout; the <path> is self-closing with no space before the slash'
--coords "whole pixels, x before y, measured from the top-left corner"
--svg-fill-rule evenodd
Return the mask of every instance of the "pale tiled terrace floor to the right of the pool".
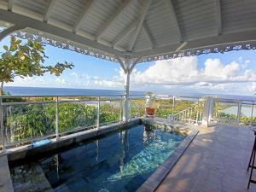
<path id="1" fill-rule="evenodd" d="M 247 190 L 253 131 L 232 125 L 212 125 L 198 130 L 197 137 L 156 191 L 256 191 L 253 183 Z M 253 176 L 256 180 L 256 170 Z"/>

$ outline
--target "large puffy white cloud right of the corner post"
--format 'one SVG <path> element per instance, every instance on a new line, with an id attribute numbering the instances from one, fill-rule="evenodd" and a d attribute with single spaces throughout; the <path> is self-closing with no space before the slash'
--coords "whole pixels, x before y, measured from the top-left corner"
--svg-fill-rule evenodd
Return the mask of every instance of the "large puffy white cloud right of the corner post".
<path id="1" fill-rule="evenodd" d="M 120 77 L 123 76 L 121 71 Z M 147 70 L 134 70 L 131 74 L 131 82 L 134 84 L 227 84 L 253 82 L 255 79 L 256 73 L 253 70 L 242 72 L 241 64 L 236 61 L 224 65 L 219 59 L 207 59 L 204 67 L 199 68 L 198 60 L 193 56 L 155 61 Z"/>

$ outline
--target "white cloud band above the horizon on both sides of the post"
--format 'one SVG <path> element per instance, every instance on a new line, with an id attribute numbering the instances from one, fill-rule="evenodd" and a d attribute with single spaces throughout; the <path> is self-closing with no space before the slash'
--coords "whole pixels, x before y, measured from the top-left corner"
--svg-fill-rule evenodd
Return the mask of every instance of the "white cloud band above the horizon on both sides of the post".
<path id="1" fill-rule="evenodd" d="M 239 61 L 240 60 L 240 61 Z M 155 61 L 146 70 L 134 68 L 131 90 L 186 90 L 187 92 L 229 92 L 253 95 L 256 91 L 256 72 L 247 65 L 251 61 L 240 58 L 230 63 L 207 59 L 201 66 L 197 57 L 182 57 Z M 32 77 L 15 79 L 9 85 L 122 89 L 125 74 L 121 68 L 108 79 L 88 73 L 72 72 L 61 77 Z"/>

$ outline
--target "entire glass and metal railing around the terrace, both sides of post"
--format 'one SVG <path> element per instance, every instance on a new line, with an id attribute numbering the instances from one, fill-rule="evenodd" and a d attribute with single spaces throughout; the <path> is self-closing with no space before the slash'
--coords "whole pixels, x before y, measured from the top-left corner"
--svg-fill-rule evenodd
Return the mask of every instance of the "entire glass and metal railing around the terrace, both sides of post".
<path id="1" fill-rule="evenodd" d="M 13 148 L 37 139 L 56 138 L 74 132 L 122 123 L 125 96 L 1 96 L 0 148 Z M 256 100 L 212 97 L 207 112 L 205 98 L 157 96 L 154 117 L 200 125 L 221 122 L 256 125 Z M 145 115 L 145 97 L 130 96 L 129 117 Z M 206 116 L 208 118 L 206 118 Z"/>

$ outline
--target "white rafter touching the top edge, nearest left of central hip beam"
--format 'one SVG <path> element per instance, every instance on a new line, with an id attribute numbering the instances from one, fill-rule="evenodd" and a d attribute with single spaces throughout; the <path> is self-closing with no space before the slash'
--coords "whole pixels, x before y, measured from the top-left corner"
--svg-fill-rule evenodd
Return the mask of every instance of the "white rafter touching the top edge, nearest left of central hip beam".
<path id="1" fill-rule="evenodd" d="M 131 3 L 131 2 L 132 2 L 132 0 L 125 0 L 125 2 L 121 4 L 119 9 L 117 9 L 113 13 L 113 15 L 110 17 L 110 19 L 107 22 L 105 22 L 105 24 L 102 26 L 102 28 L 96 33 L 96 41 L 98 41 L 99 38 L 102 37 L 104 32 L 106 32 L 108 30 L 109 26 L 111 26 L 111 24 L 113 24 L 113 21 L 116 20 L 119 17 L 119 15 L 122 15 L 124 13 L 125 8 L 127 8 L 129 3 Z"/>

